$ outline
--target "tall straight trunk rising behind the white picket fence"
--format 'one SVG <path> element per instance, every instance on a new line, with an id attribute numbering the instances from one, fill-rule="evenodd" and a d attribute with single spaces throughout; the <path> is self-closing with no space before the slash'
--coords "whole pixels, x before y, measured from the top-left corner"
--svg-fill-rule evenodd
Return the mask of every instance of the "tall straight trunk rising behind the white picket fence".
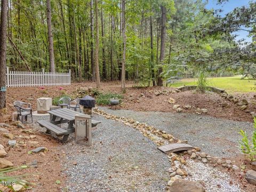
<path id="1" fill-rule="evenodd" d="M 48 41 L 49 41 L 50 71 L 55 72 L 53 35 L 52 35 L 52 15 L 51 15 L 50 0 L 46 0 L 46 10 L 47 10 L 46 14 L 47 14 Z"/>

